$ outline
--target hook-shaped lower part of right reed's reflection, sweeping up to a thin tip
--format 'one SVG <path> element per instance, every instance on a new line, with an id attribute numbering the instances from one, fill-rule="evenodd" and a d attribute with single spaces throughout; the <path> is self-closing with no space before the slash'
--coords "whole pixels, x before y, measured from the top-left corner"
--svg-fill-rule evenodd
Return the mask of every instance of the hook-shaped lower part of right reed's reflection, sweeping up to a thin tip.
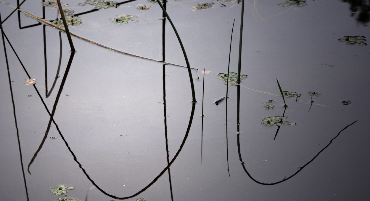
<path id="1" fill-rule="evenodd" d="M 346 127 L 344 127 L 341 131 L 339 131 L 339 133 L 333 138 L 333 139 L 331 139 L 330 140 L 330 142 L 329 142 L 329 144 L 327 144 L 323 149 L 321 149 L 321 151 L 319 151 L 309 162 L 307 162 L 305 165 L 303 165 L 302 167 L 299 167 L 299 170 L 297 171 L 297 172 L 295 172 L 294 174 L 292 174 L 290 177 L 288 177 L 288 178 L 286 178 L 286 177 L 284 177 L 282 180 L 280 180 L 280 181 L 277 181 L 277 182 L 273 182 L 273 183 L 263 183 L 263 182 L 260 182 L 260 181 L 257 181 L 255 178 L 253 178 L 252 177 L 252 175 L 250 175 L 249 174 L 249 172 L 247 171 L 247 169 L 246 169 L 246 167 L 245 167 L 245 162 L 243 162 L 243 160 L 242 160 L 242 154 L 240 153 L 240 138 L 239 138 L 239 135 L 240 135 L 240 133 L 237 135 L 237 137 L 238 137 L 238 154 L 239 154 L 239 161 L 240 162 L 242 162 L 242 166 L 243 166 L 243 169 L 244 169 L 244 171 L 245 171 L 245 173 L 248 175 L 248 177 L 250 178 L 250 179 L 252 179 L 253 181 L 255 181 L 256 183 L 258 183 L 258 184 L 262 184 L 262 185 L 275 185 L 275 184 L 279 184 L 279 183 L 281 183 L 281 182 L 283 182 L 283 181 L 286 181 L 286 180 L 288 180 L 288 179 L 290 179 L 290 178 L 292 178 L 294 175 L 296 175 L 296 174 L 298 174 L 298 172 L 300 172 L 303 168 L 305 168 L 308 164 L 310 164 L 310 162 L 312 162 L 317 156 L 319 156 L 319 154 L 321 153 L 321 152 L 323 152 L 324 151 L 324 149 L 326 149 L 330 144 L 332 144 L 332 142 L 333 142 L 333 140 L 335 139 L 335 138 L 337 138 L 338 136 L 339 136 L 339 134 L 342 132 L 342 131 L 344 131 L 346 128 L 348 128 L 349 126 L 351 126 L 352 124 L 354 124 L 354 123 L 356 123 L 358 120 L 356 120 L 356 121 L 354 121 L 354 122 L 352 122 L 351 124 L 349 124 L 349 125 L 347 125 Z"/>

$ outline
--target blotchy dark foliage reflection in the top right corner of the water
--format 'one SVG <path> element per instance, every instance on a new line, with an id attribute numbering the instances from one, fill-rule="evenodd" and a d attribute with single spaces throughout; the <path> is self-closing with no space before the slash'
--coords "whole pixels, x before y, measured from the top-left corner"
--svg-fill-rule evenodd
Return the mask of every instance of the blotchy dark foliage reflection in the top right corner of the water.
<path id="1" fill-rule="evenodd" d="M 370 20 L 370 1 L 369 0 L 341 0 L 350 6 L 351 17 L 356 17 L 357 23 L 367 26 Z"/>

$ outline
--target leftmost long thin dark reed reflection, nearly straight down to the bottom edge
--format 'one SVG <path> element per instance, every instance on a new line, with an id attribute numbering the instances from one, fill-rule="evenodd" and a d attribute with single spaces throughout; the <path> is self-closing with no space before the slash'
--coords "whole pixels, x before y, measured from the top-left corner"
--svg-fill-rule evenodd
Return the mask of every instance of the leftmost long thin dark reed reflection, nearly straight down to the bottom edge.
<path id="1" fill-rule="evenodd" d="M 0 16 L 0 21 L 1 21 L 1 16 Z M 5 47 L 5 40 L 4 40 L 5 33 L 3 32 L 3 27 L 2 26 L 0 26 L 0 29 L 1 29 L 1 38 L 3 39 L 4 56 L 5 56 L 6 68 L 7 68 L 7 71 L 8 71 L 8 80 L 9 80 L 9 89 L 10 89 L 11 103 L 13 105 L 14 124 L 15 124 L 16 130 L 17 130 L 19 158 L 20 158 L 20 161 L 21 161 L 21 168 L 22 168 L 22 174 L 23 174 L 24 188 L 26 190 L 26 197 L 27 197 L 27 201 L 28 201 L 29 199 L 28 199 L 27 182 L 26 182 L 26 177 L 25 177 L 25 174 L 24 174 L 24 165 L 23 165 L 23 158 L 22 158 L 21 142 L 20 142 L 20 138 L 19 138 L 19 130 L 18 130 L 17 116 L 16 116 L 16 106 L 14 104 L 13 89 L 11 88 L 11 79 L 10 79 L 10 70 L 9 70 L 8 56 L 6 54 L 6 47 Z M 8 40 L 8 42 L 9 42 L 9 40 Z"/>

